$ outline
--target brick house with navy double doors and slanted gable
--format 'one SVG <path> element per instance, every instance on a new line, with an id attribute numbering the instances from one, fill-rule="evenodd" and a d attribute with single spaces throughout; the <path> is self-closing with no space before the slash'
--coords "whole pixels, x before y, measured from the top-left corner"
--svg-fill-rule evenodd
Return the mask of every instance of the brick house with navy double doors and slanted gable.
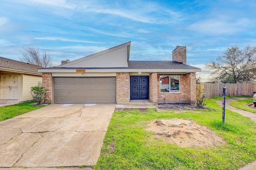
<path id="1" fill-rule="evenodd" d="M 48 90 L 46 102 L 195 104 L 196 72 L 201 69 L 186 65 L 186 47 L 177 46 L 172 61 L 130 61 L 130 45 L 38 69 Z"/>

